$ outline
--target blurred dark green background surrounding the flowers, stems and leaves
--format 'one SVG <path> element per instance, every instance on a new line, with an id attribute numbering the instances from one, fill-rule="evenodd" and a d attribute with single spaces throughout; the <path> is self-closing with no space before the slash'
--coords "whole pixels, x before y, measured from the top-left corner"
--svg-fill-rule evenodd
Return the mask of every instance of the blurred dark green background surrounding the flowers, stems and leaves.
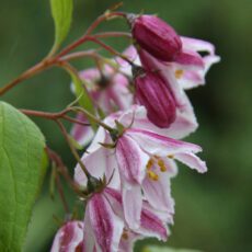
<path id="1" fill-rule="evenodd" d="M 72 30 L 67 42 L 80 36 L 107 7 L 117 1 L 76 0 Z M 0 85 L 44 57 L 54 41 L 48 0 L 0 0 Z M 252 251 L 252 116 L 251 116 L 251 0 L 126 0 L 124 11 L 158 13 L 185 36 L 210 41 L 221 64 L 213 67 L 206 87 L 188 92 L 199 129 L 187 140 L 204 148 L 207 174 L 181 165 L 173 180 L 176 202 L 175 225 L 168 245 L 203 251 Z M 101 30 L 126 28 L 123 21 L 101 25 Z M 66 42 L 66 43 L 67 43 Z M 123 38 L 110 41 L 116 48 Z M 90 66 L 79 60 L 79 69 Z M 69 77 L 50 69 L 1 98 L 16 107 L 59 111 L 73 100 Z M 75 161 L 51 122 L 35 119 L 53 149 L 62 154 L 72 170 Z M 70 125 L 67 125 L 70 128 Z M 69 190 L 66 187 L 66 192 Z M 71 193 L 67 193 L 73 204 Z M 34 208 L 25 251 L 48 251 L 57 225 L 64 217 L 59 201 L 48 196 L 45 182 Z M 156 240 L 139 242 L 136 251 Z"/>

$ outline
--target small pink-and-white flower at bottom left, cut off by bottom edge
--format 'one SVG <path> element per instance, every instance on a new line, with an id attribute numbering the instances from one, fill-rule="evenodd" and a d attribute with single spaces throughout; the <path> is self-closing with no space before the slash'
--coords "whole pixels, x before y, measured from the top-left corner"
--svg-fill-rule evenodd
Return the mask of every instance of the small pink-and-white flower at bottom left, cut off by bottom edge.
<path id="1" fill-rule="evenodd" d="M 72 252 L 83 250 L 83 222 L 66 222 L 56 233 L 50 252 Z"/>

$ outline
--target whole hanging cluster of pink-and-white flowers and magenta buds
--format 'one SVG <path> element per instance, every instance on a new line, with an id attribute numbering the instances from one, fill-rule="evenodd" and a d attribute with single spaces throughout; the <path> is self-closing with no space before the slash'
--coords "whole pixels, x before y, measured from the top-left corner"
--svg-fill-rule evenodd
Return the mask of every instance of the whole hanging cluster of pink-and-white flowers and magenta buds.
<path id="1" fill-rule="evenodd" d="M 123 57 L 80 72 L 105 117 L 96 133 L 81 125 L 71 130 L 82 146 L 91 141 L 81 158 L 91 176 L 77 164 L 75 181 L 88 190 L 84 219 L 58 230 L 54 252 L 131 251 L 138 239 L 165 241 L 173 224 L 170 181 L 176 162 L 207 171 L 196 156 L 202 148 L 180 139 L 197 128 L 185 91 L 204 84 L 219 61 L 214 46 L 179 36 L 154 15 L 128 14 L 127 20 L 134 43 Z M 80 113 L 78 119 L 89 118 Z"/>

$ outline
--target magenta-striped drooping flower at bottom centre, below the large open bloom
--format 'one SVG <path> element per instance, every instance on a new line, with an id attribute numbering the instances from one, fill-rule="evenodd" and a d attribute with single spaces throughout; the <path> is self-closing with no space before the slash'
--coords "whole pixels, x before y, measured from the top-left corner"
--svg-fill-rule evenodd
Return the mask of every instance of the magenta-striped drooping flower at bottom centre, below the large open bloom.
<path id="1" fill-rule="evenodd" d="M 87 177 L 85 183 L 89 183 Z M 101 187 L 98 182 L 92 188 L 93 192 L 87 199 L 84 221 L 81 226 L 82 251 L 126 252 L 133 251 L 134 242 L 144 237 L 167 240 L 170 216 L 154 210 L 145 202 L 140 214 L 140 226 L 136 230 L 130 230 L 125 222 L 121 192 L 108 187 L 107 184 Z"/>

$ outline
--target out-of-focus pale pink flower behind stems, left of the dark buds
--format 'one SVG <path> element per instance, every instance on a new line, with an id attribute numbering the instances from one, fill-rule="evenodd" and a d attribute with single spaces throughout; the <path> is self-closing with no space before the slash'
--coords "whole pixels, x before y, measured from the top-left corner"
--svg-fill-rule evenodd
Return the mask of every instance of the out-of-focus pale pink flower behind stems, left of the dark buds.
<path id="1" fill-rule="evenodd" d="M 110 66 L 104 66 L 103 75 L 95 68 L 83 70 L 80 72 L 80 78 L 84 81 L 95 107 L 104 114 L 126 110 L 133 104 L 128 79 Z M 81 113 L 77 115 L 77 119 L 89 123 Z M 80 145 L 85 146 L 93 138 L 94 133 L 91 127 L 75 124 L 71 135 Z"/>

